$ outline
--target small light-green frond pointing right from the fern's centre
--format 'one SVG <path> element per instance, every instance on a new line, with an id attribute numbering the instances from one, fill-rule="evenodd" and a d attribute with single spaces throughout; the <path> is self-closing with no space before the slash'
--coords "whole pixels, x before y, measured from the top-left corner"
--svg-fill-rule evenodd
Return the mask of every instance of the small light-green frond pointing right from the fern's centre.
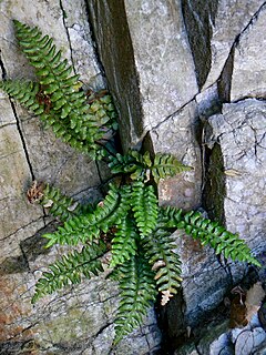
<path id="1" fill-rule="evenodd" d="M 183 171 L 190 171 L 192 168 L 182 164 L 175 156 L 171 154 L 157 153 L 154 158 L 151 172 L 156 183 L 160 179 L 174 176 Z"/>

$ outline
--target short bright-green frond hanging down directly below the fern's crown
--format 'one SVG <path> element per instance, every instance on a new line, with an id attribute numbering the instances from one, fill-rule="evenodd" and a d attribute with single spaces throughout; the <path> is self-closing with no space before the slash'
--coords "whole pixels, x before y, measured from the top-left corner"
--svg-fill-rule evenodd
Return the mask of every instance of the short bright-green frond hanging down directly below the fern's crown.
<path id="1" fill-rule="evenodd" d="M 142 181 L 132 184 L 131 206 L 141 237 L 152 233 L 157 225 L 158 204 L 152 185 Z"/>

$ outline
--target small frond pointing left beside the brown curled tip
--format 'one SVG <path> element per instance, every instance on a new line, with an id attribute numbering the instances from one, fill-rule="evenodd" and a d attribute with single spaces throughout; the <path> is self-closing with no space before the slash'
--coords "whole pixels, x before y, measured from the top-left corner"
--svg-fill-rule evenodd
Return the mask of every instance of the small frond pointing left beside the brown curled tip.
<path id="1" fill-rule="evenodd" d="M 81 215 L 82 213 L 90 213 L 93 211 L 93 204 L 82 205 L 61 193 L 59 189 L 54 189 L 49 184 L 43 190 L 43 197 L 40 204 L 49 209 L 49 213 L 55 217 L 60 217 L 61 221 L 68 221 L 74 215 Z"/>

